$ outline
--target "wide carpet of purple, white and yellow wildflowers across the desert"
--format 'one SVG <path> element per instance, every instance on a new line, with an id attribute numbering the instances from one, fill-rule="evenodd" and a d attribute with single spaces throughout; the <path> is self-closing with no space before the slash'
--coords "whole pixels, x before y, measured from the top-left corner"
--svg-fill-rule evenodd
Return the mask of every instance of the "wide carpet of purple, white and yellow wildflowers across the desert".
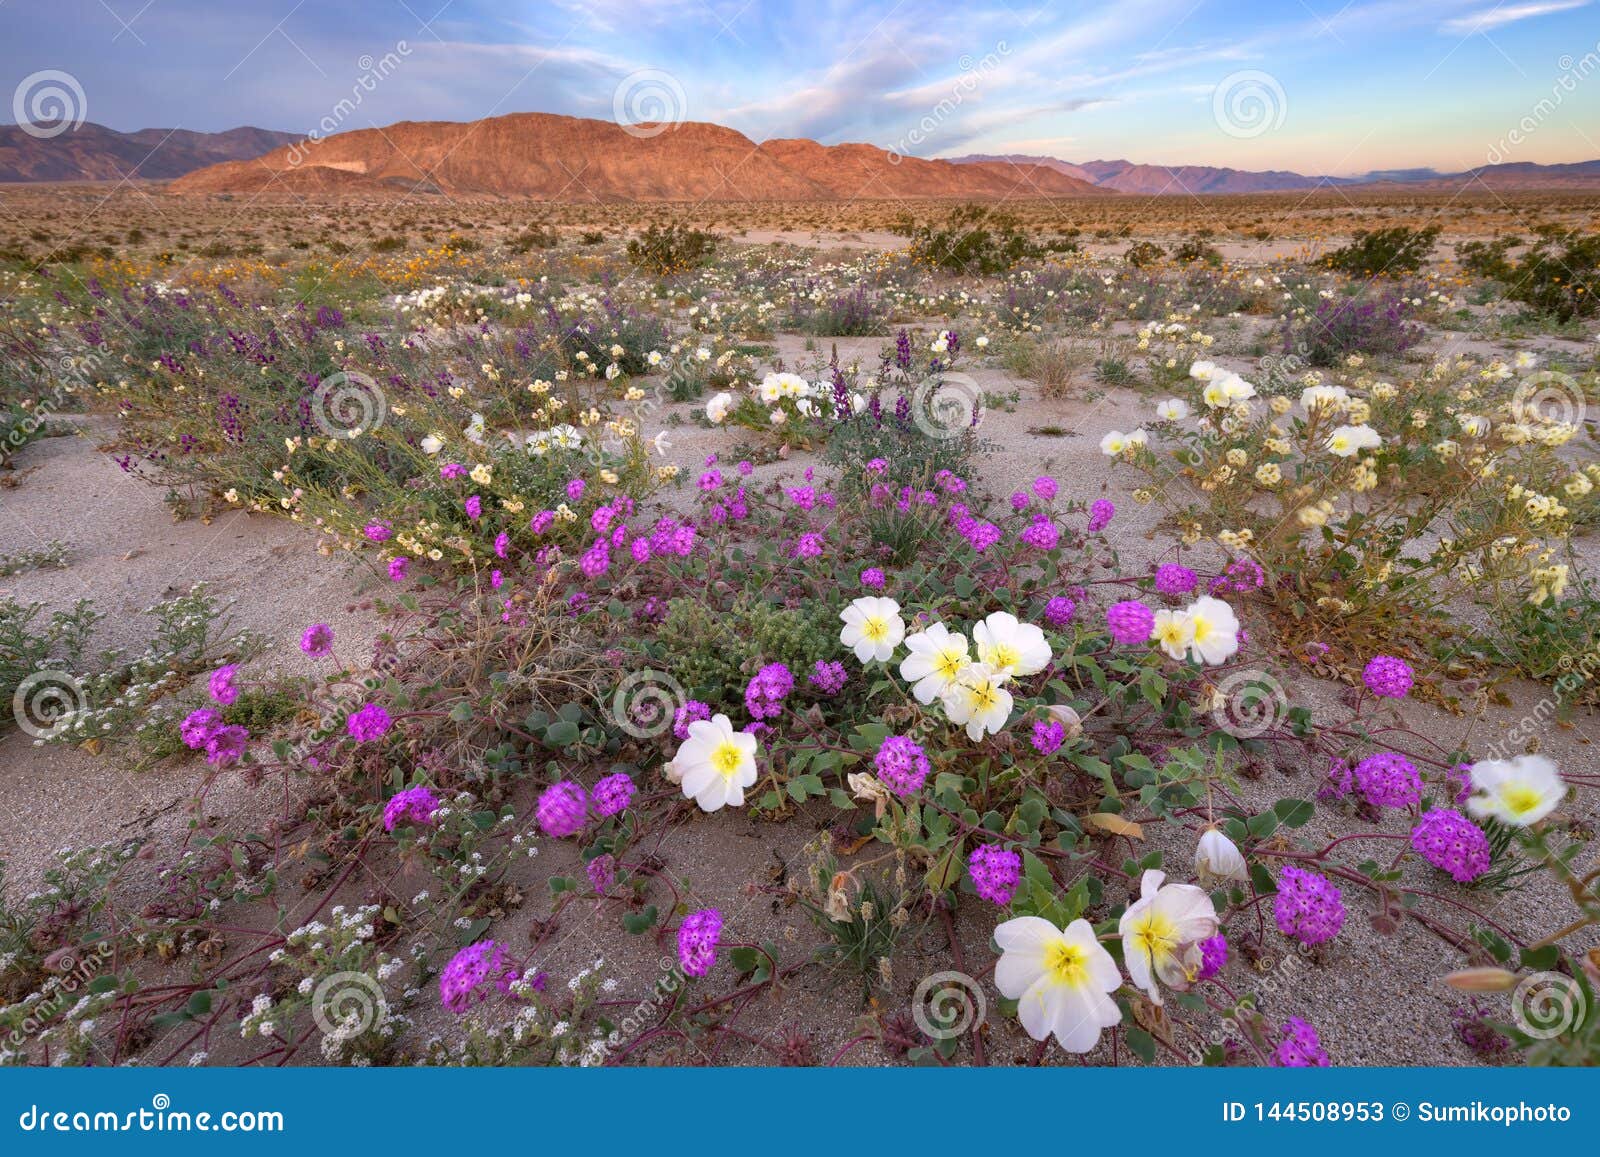
<path id="1" fill-rule="evenodd" d="M 0 890 L 0 1061 L 1322 1067 L 1350 1026 L 1293 970 L 1402 927 L 1461 991 L 1592 1002 L 1600 779 L 1411 715 L 1518 631 L 1582 651 L 1600 467 L 1536 358 L 1400 360 L 1459 304 L 1421 270 L 1352 298 L 962 219 L 978 269 L 922 230 L 653 280 L 541 227 L 318 270 L 326 304 L 270 262 L 21 293 L 0 336 L 117 365 L 80 395 L 123 469 L 370 563 L 382 629 L 290 623 L 272 674 L 198 592 L 82 679 L 40 743 L 144 720 L 197 787 Z M 867 352 L 781 358 L 794 326 Z M 1110 478 L 992 469 L 987 422 L 1038 398 L 979 378 L 1067 406 L 1091 362 L 1154 390 L 1059 443 Z M 38 615 L 0 613 L 8 690 L 85 666 L 93 615 Z M 1499 904 L 1534 879 L 1538 931 Z M 267 907 L 302 915 L 235 915 Z M 1597 1032 L 1450 1040 L 1592 1063 Z"/>

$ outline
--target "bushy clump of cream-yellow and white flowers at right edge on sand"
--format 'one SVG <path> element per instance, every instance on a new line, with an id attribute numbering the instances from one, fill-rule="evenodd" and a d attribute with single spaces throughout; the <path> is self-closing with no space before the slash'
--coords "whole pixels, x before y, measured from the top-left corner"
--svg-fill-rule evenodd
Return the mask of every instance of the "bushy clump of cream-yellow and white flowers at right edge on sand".
<path id="1" fill-rule="evenodd" d="M 1189 398 L 1102 450 L 1149 475 L 1141 496 L 1166 504 L 1186 541 L 1259 565 L 1261 597 L 1288 619 L 1315 615 L 1323 642 L 1366 651 L 1382 629 L 1427 647 L 1451 635 L 1454 599 L 1542 607 L 1566 591 L 1557 547 L 1594 478 L 1562 458 L 1578 427 L 1526 405 L 1541 389 L 1531 368 L 1459 358 L 1389 381 L 1357 355 L 1258 386 L 1197 360 Z M 1379 655 L 1365 679 L 1403 698 L 1414 672 Z"/>

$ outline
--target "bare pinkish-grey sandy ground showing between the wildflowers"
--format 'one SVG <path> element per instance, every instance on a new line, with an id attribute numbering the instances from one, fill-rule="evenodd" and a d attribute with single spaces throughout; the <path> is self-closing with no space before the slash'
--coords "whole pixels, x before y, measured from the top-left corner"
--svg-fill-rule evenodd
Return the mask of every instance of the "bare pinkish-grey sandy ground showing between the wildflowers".
<path id="1" fill-rule="evenodd" d="M 875 338 L 838 342 L 842 357 L 861 355 L 867 363 L 875 360 L 880 344 Z M 794 363 L 805 354 L 803 342 L 784 338 L 779 354 Z M 1078 397 L 1045 400 L 1030 382 L 995 366 L 979 365 L 971 373 L 986 389 L 1021 392 L 1014 410 L 990 410 L 984 419 L 982 435 L 1000 448 L 981 462 L 981 482 L 989 490 L 1003 496 L 1037 474 L 1050 472 L 1062 483 L 1062 494 L 1085 501 L 1107 496 L 1117 502 L 1112 530 L 1125 570 L 1146 570 L 1165 557 L 1170 539 L 1155 533 L 1157 512 L 1131 501 L 1134 474 L 1107 469 L 1096 448 L 1106 429 L 1131 429 L 1149 414 L 1150 398 L 1083 382 Z M 682 418 L 690 410 L 678 406 L 677 413 Z M 1046 437 L 1029 432 L 1045 426 L 1058 426 L 1066 434 Z M 707 453 L 726 454 L 730 437 L 725 430 L 693 424 L 669 424 L 667 429 L 672 438 L 669 461 L 677 461 L 690 475 Z M 205 579 L 235 602 L 240 626 L 270 639 L 272 647 L 258 661 L 262 671 L 306 669 L 309 661 L 294 643 L 304 626 L 318 621 L 334 627 L 346 656 L 363 658 L 370 653 L 371 616 L 360 610 L 360 600 L 371 592 L 368 571 L 342 557 L 320 555 L 312 534 L 288 522 L 240 514 L 211 525 L 176 523 L 162 502 L 160 490 L 122 474 L 96 451 L 91 435 L 93 427 L 80 437 L 50 438 L 18 456 L 19 485 L 0 491 L 0 554 L 61 538 L 72 544 L 72 555 L 66 571 L 32 571 L 6 579 L 0 589 L 51 608 L 93 597 L 112 611 L 102 626 L 104 645 L 131 647 L 141 637 L 139 613 L 146 607 Z M 757 477 L 797 477 L 813 462 L 806 454 L 795 454 L 760 467 Z M 664 501 L 680 498 L 669 491 Z M 1282 679 L 1290 699 L 1312 706 L 1318 720 L 1347 715 L 1344 687 L 1274 664 L 1259 640 L 1254 653 L 1264 669 Z M 1403 704 L 1402 715 L 1408 727 L 1445 747 L 1454 747 L 1467 736 L 1474 747 L 1483 747 L 1534 711 L 1541 695 L 1541 688 L 1531 685 L 1515 687 L 1512 707 L 1486 709 L 1482 719 L 1450 715 L 1414 701 Z M 1595 738 L 1600 738 L 1600 722 L 1584 714 L 1570 725 L 1546 727 L 1539 733 L 1544 749 L 1563 767 L 1589 771 L 1597 767 Z M 1243 802 L 1266 807 L 1283 797 L 1312 795 L 1320 775 L 1318 768 L 1269 768 L 1259 779 L 1243 779 L 1235 789 Z M 155 845 L 170 847 L 182 834 L 182 803 L 198 776 L 200 765 L 195 762 L 130 773 L 115 757 L 35 747 L 18 733 L 0 739 L 0 858 L 11 871 L 10 890 L 32 888 L 51 850 L 64 845 L 85 847 L 130 831 L 149 831 Z M 262 802 L 238 783 L 226 783 L 208 803 L 211 813 L 237 816 L 242 823 L 261 807 Z M 686 815 L 666 832 L 659 855 L 667 872 L 691 880 L 688 899 L 693 907 L 717 906 L 723 911 L 728 943 L 773 939 L 782 946 L 786 962 L 792 962 L 816 947 L 818 936 L 803 912 L 782 903 L 770 888 L 781 885 L 789 872 L 800 871 L 803 845 L 830 823 L 827 807 L 808 808 L 786 824 L 760 824 L 728 813 Z M 1296 839 L 1315 843 L 1368 827 L 1370 821 L 1355 818 L 1346 807 L 1318 807 L 1312 824 Z M 1405 829 L 1390 819 L 1389 831 Z M 1168 863 L 1187 874 L 1192 845 L 1176 832 L 1162 839 Z M 1392 855 L 1397 847 L 1386 842 L 1373 855 Z M 581 875 L 574 851 L 566 843 L 546 842 L 538 859 L 518 867 L 528 903 L 496 925 L 498 938 L 512 944 L 531 941 L 550 915 L 546 877 L 557 871 Z M 1538 877 L 1504 896 L 1485 899 L 1456 888 L 1426 866 L 1408 871 L 1411 879 L 1426 882 L 1424 887 L 1443 898 L 1437 907 L 1446 917 L 1453 901 L 1488 907 L 1494 922 L 1528 938 L 1568 919 L 1563 898 Z M 1253 968 L 1235 952 L 1224 981 L 1235 992 L 1270 986 L 1266 997 L 1269 1015 L 1275 1019 L 1290 1015 L 1310 1019 L 1338 1064 L 1472 1063 L 1472 1055 L 1451 1029 L 1451 1010 L 1462 1000 L 1438 981 L 1445 971 L 1461 965 L 1461 954 L 1414 920 L 1402 920 L 1394 935 L 1381 935 L 1368 919 L 1374 912 L 1371 893 L 1349 887 L 1346 901 L 1350 919 L 1341 936 L 1310 959 L 1296 957 L 1294 965 L 1283 963 L 1285 941 L 1270 931 L 1269 914 L 1267 955 Z M 1459 911 L 1453 915 L 1464 927 L 1466 915 Z M 978 901 L 962 904 L 955 920 L 962 963 L 955 963 L 939 923 L 907 936 L 894 960 L 896 994 L 909 1007 L 918 981 L 933 971 L 958 968 L 979 976 L 990 1005 L 982 1029 L 986 1061 L 1026 1063 L 1034 1055 L 1032 1042 L 994 1010 L 998 994 L 987 979 L 994 959 L 989 949 L 992 917 L 992 911 Z M 1235 923 L 1230 936 L 1250 931 L 1245 923 Z M 1595 938 L 1590 935 L 1586 943 L 1595 943 Z M 602 955 L 608 973 L 621 981 L 622 995 L 618 999 L 634 1002 L 650 992 L 662 971 L 661 960 L 669 959 L 672 949 L 650 935 L 622 933 L 614 907 L 584 898 L 562 914 L 554 931 L 544 930 L 534 959 L 552 975 L 565 976 Z M 1502 995 L 1490 1003 L 1496 1013 L 1506 1015 L 1506 1000 Z M 430 1002 L 422 1005 L 430 1007 Z M 781 1002 L 763 999 L 750 1005 L 739 1027 L 746 1034 L 776 1040 L 782 1026 L 800 1024 L 813 1035 L 816 1058 L 826 1063 L 856 1035 L 861 1011 L 861 986 L 850 973 L 837 967 L 808 968 L 789 984 Z M 440 1013 L 419 1013 L 419 1035 L 446 1031 L 448 1019 Z M 725 1042 L 715 1056 L 709 1056 L 706 1048 L 704 1042 L 667 1042 L 642 1056 L 653 1061 L 771 1059 L 757 1047 L 736 1040 Z M 963 1051 L 963 1056 L 970 1053 Z M 1051 1051 L 1050 1058 L 1061 1059 L 1061 1055 Z M 853 1048 L 843 1058 L 859 1064 L 888 1059 L 875 1047 Z M 1102 1048 L 1091 1059 L 1106 1063 L 1110 1056 Z M 1173 1058 L 1163 1055 L 1163 1059 Z"/>

